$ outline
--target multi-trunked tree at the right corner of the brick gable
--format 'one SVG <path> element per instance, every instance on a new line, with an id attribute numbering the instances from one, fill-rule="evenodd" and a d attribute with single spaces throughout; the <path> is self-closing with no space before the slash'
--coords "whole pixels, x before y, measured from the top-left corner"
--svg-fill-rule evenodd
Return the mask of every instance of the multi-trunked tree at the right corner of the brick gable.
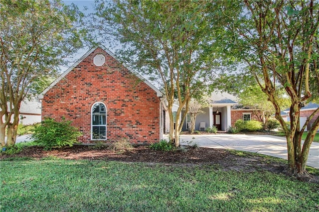
<path id="1" fill-rule="evenodd" d="M 220 49 L 212 38 L 222 30 L 210 21 L 216 6 L 215 1 L 190 0 L 99 0 L 95 5 L 92 31 L 102 40 L 113 37 L 119 41 L 122 60 L 159 82 L 170 120 L 173 104 L 178 104 L 176 127 L 173 121 L 169 125 L 175 146 L 191 97 L 207 89 L 212 70 L 219 64 Z"/>

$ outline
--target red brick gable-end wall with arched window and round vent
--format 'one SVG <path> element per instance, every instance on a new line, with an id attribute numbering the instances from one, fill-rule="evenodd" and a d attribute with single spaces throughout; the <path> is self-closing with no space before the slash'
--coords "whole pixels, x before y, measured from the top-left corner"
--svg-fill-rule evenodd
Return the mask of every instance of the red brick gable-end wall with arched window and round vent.
<path id="1" fill-rule="evenodd" d="M 108 49 L 93 48 L 40 95 L 42 119 L 62 117 L 82 132 L 81 143 L 134 144 L 162 137 L 161 92 L 121 64 Z"/>

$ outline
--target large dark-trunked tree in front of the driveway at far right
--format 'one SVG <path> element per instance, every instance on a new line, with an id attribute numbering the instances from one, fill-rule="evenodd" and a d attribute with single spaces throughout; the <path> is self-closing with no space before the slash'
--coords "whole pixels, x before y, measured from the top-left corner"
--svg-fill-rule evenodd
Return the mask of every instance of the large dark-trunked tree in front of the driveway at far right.
<path id="1" fill-rule="evenodd" d="M 247 70 L 274 106 L 275 117 L 287 138 L 289 170 L 292 174 L 308 175 L 306 163 L 319 128 L 319 117 L 308 129 L 303 145 L 301 138 L 319 108 L 303 126 L 300 126 L 300 109 L 318 99 L 319 2 L 244 0 L 220 4 L 231 39 L 225 45 L 247 64 Z M 284 108 L 277 91 L 282 88 L 290 100 L 290 127 L 280 113 Z"/>

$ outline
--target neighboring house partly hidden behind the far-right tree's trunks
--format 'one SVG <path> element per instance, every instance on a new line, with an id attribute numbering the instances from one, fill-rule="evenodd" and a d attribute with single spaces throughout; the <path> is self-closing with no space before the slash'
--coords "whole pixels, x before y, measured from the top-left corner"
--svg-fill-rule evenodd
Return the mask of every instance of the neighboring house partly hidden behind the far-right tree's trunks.
<path id="1" fill-rule="evenodd" d="M 300 109 L 300 126 L 302 127 L 307 119 L 309 118 L 309 116 L 311 114 L 313 114 L 313 112 L 319 107 L 318 104 L 316 103 L 309 103 L 306 106 L 302 107 Z M 290 117 L 289 117 L 289 112 L 290 109 L 285 109 L 284 111 L 282 111 L 282 114 L 284 117 L 286 117 L 287 121 L 290 121 Z M 308 129 L 310 129 L 313 125 L 313 123 L 315 122 L 316 118 L 319 116 L 319 113 L 317 113 L 308 123 L 307 127 L 305 128 L 305 131 L 308 131 Z M 285 120 L 286 120 L 285 119 Z"/>

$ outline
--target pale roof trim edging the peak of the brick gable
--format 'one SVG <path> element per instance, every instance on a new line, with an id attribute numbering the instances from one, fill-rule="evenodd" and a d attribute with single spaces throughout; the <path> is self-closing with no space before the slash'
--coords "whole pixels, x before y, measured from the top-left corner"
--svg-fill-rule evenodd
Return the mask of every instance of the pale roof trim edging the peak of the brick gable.
<path id="1" fill-rule="evenodd" d="M 56 80 L 54 80 L 41 94 L 38 95 L 38 98 L 43 99 L 46 92 L 48 92 L 53 86 L 55 86 L 61 79 L 63 79 L 69 72 L 71 72 L 77 65 L 79 65 L 86 57 L 88 57 L 92 52 L 94 52 L 97 48 L 103 49 L 106 53 L 108 53 L 111 57 L 117 60 L 119 63 L 119 59 L 107 48 L 99 44 L 97 47 L 90 49 L 87 53 L 85 53 L 77 62 L 75 62 L 72 66 L 70 66 L 65 72 L 63 72 Z M 130 72 L 132 72 L 135 76 L 137 76 L 140 80 L 150 86 L 156 93 L 158 97 L 162 97 L 162 93 L 159 89 L 157 89 L 152 83 L 147 81 L 142 75 L 128 67 L 125 63 L 121 63 L 125 68 L 127 68 Z"/>

